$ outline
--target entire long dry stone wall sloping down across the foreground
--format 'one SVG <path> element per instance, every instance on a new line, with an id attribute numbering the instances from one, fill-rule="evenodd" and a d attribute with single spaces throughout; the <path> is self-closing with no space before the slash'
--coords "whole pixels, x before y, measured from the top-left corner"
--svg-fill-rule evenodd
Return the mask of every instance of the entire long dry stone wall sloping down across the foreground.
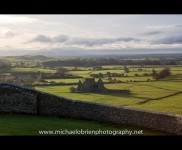
<path id="1" fill-rule="evenodd" d="M 0 112 L 129 124 L 182 135 L 182 116 L 71 100 L 10 84 L 0 84 Z"/>

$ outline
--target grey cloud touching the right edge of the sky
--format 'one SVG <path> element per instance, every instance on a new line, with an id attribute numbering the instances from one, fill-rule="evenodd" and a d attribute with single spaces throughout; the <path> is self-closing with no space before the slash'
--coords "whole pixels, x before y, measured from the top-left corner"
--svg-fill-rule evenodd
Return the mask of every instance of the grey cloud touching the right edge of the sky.
<path id="1" fill-rule="evenodd" d="M 173 35 L 153 41 L 152 44 L 182 44 L 182 35 Z"/>

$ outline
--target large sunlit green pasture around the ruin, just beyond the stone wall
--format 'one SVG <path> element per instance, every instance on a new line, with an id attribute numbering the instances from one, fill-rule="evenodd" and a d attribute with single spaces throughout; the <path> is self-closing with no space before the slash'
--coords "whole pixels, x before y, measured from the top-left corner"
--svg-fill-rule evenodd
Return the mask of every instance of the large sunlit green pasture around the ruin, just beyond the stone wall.
<path id="1" fill-rule="evenodd" d="M 125 106 L 182 115 L 181 94 L 140 104 L 140 102 L 143 102 L 148 98 L 155 99 L 165 97 L 182 91 L 181 82 L 154 81 L 105 84 L 105 87 L 108 89 L 130 90 L 130 94 L 71 93 L 69 91 L 70 87 L 71 86 L 43 86 L 36 87 L 36 89 L 75 100 L 83 100 L 114 106 Z"/>

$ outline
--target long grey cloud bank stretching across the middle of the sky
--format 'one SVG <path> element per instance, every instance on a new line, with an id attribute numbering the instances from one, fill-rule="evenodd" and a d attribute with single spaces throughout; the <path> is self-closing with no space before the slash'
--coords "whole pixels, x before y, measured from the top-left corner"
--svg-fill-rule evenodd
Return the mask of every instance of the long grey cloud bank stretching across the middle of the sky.
<path id="1" fill-rule="evenodd" d="M 140 41 L 139 39 L 132 38 L 132 37 L 119 37 L 119 38 L 71 38 L 67 35 L 58 35 L 56 37 L 48 37 L 45 35 L 38 35 L 30 42 L 41 42 L 41 43 L 64 43 L 66 45 L 80 45 L 80 46 L 101 46 L 104 44 L 113 44 L 117 42 L 130 42 Z"/>

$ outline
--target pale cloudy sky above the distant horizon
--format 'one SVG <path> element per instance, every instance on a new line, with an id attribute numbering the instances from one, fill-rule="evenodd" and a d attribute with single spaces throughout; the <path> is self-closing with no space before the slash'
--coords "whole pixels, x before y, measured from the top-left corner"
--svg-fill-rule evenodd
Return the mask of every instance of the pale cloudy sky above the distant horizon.
<path id="1" fill-rule="evenodd" d="M 0 55 L 182 52 L 182 15 L 0 15 Z"/>

